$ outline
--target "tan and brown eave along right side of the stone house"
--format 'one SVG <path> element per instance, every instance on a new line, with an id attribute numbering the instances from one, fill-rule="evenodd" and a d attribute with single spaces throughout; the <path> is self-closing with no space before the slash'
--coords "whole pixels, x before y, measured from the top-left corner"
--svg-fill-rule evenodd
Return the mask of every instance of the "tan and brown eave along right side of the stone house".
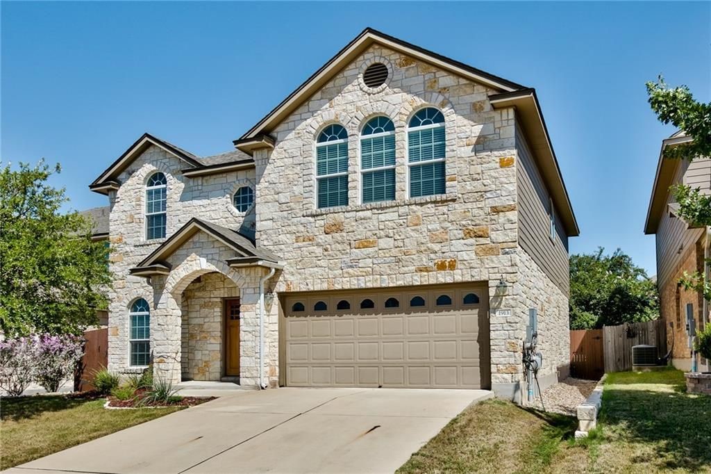
<path id="1" fill-rule="evenodd" d="M 570 196 L 558 166 L 535 89 L 527 88 L 510 93 L 489 95 L 489 101 L 494 109 L 515 107 L 517 118 L 523 125 L 528 138 L 528 145 L 535 154 L 534 159 L 538 163 L 538 168 L 550 189 L 556 208 L 560 212 L 566 235 L 569 237 L 579 236 L 580 229 L 572 204 L 570 204 Z"/>

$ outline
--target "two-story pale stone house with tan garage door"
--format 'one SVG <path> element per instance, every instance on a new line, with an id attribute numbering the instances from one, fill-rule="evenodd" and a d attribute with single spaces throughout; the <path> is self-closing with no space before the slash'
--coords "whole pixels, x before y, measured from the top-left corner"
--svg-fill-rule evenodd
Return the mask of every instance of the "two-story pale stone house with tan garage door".
<path id="1" fill-rule="evenodd" d="M 145 134 L 91 184 L 109 369 L 520 399 L 535 308 L 567 376 L 579 231 L 533 89 L 368 28 L 234 144 Z"/>

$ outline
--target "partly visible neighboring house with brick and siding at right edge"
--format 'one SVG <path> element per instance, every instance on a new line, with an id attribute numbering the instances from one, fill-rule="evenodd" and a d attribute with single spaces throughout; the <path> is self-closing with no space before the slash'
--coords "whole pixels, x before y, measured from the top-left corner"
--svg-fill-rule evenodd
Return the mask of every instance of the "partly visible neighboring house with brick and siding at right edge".
<path id="1" fill-rule="evenodd" d="M 709 257 L 711 238 L 709 229 L 690 225 L 675 213 L 678 204 L 673 201 L 669 187 L 687 184 L 711 192 L 711 160 L 697 159 L 686 162 L 679 159 L 664 159 L 666 147 L 690 141 L 683 132 L 676 132 L 662 141 L 659 164 L 649 201 L 644 233 L 655 234 L 657 248 L 657 287 L 661 304 L 661 317 L 667 327 L 667 344 L 672 347 L 675 367 L 688 371 L 691 367 L 688 322 L 695 321 L 696 329 L 702 329 L 708 321 L 709 309 L 700 293 L 685 290 L 679 284 L 685 272 L 708 271 L 704 264 Z M 709 369 L 708 362 L 699 359 L 700 369 Z"/>

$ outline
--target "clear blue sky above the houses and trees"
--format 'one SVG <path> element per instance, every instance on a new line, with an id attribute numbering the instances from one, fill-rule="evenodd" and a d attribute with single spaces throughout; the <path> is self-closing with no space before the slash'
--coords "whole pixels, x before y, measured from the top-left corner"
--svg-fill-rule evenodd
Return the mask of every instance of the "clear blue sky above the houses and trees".
<path id="1" fill-rule="evenodd" d="M 643 235 L 661 139 L 644 83 L 711 95 L 711 4 L 1 4 L 3 162 L 60 162 L 73 209 L 141 133 L 231 149 L 366 26 L 535 87 L 582 234 L 655 273 Z"/>

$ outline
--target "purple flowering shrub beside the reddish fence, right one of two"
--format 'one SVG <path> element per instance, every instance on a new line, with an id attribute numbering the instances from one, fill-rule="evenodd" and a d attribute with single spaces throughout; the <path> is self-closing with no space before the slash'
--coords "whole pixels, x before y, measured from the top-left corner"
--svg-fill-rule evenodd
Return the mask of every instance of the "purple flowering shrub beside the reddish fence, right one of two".
<path id="1" fill-rule="evenodd" d="M 84 340 L 74 335 L 42 334 L 33 337 L 36 344 L 35 381 L 52 393 L 73 374 L 84 354 Z"/>

